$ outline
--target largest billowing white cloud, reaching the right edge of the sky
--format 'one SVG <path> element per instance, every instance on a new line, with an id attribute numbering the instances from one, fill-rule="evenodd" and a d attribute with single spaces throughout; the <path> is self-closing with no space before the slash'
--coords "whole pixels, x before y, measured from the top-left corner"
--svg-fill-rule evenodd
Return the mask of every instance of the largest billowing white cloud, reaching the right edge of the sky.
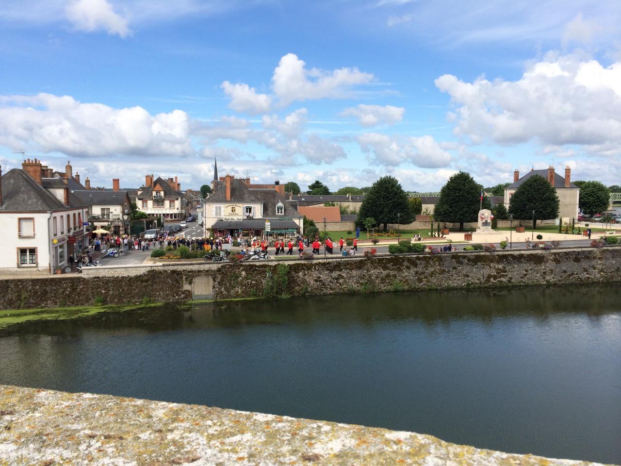
<path id="1" fill-rule="evenodd" d="M 456 76 L 435 80 L 457 106 L 455 134 L 474 144 L 538 140 L 544 145 L 621 142 L 621 63 L 602 66 L 574 55 L 534 63 L 517 81 Z M 618 152 L 617 152 L 618 153 Z"/>

